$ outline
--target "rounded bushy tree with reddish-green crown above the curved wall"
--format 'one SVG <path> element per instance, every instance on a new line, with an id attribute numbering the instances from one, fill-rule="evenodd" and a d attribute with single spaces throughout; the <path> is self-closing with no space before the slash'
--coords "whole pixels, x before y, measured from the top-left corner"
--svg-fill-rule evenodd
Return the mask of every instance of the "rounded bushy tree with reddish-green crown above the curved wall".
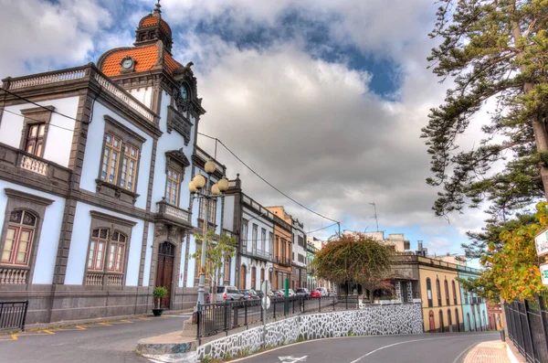
<path id="1" fill-rule="evenodd" d="M 387 287 L 392 247 L 363 233 L 342 235 L 316 253 L 316 277 L 334 283 L 360 283 L 368 289 Z"/>

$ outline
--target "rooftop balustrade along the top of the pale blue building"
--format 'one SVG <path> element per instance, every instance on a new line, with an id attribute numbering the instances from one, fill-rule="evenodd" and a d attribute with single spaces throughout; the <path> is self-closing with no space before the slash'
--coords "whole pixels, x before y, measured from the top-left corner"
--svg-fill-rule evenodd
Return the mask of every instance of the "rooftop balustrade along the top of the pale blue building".
<path id="1" fill-rule="evenodd" d="M 103 75 L 93 64 L 72 69 L 32 74 L 24 77 L 8 77 L 3 80 L 2 87 L 9 91 L 23 91 L 36 87 L 67 85 L 86 81 L 96 82 L 100 85 L 102 91 L 109 93 L 117 101 L 121 101 L 129 106 L 132 111 L 139 113 L 150 123 L 157 124 L 158 115 L 156 113 L 133 97 L 130 92 L 125 91 L 121 86 Z"/>

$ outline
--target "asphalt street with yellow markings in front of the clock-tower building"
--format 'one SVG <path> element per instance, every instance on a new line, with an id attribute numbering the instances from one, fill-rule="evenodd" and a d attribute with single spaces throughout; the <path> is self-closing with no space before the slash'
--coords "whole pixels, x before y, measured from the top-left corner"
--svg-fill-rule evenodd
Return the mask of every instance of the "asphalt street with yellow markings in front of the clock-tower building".
<path id="1" fill-rule="evenodd" d="M 129 319 L 109 325 L 85 325 L 0 336 L 0 362 L 17 363 L 150 363 L 134 353 L 137 341 L 183 328 L 189 315 Z M 53 333 L 53 334 L 51 334 Z"/>

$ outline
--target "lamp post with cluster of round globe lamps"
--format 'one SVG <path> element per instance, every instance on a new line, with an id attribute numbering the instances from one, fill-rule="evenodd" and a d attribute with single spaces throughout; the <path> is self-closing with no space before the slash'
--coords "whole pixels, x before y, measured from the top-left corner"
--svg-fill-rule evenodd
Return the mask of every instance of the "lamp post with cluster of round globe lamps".
<path id="1" fill-rule="evenodd" d="M 209 200 L 222 197 L 228 189 L 227 176 L 223 176 L 219 181 L 214 184 L 210 189 L 211 175 L 216 171 L 216 164 L 213 160 L 209 159 L 204 166 L 205 173 L 207 174 L 207 184 L 205 184 L 205 177 L 201 174 L 197 174 L 190 183 L 188 183 L 188 190 L 191 193 L 192 198 L 205 198 L 205 214 L 204 214 L 204 230 L 202 240 L 202 258 L 200 262 L 200 279 L 198 282 L 198 301 L 196 302 L 196 310 L 199 304 L 205 304 L 205 253 L 207 251 L 207 224 L 209 223 Z M 205 187 L 205 193 L 198 193 L 203 187 Z M 212 292 L 215 294 L 215 292 Z"/>

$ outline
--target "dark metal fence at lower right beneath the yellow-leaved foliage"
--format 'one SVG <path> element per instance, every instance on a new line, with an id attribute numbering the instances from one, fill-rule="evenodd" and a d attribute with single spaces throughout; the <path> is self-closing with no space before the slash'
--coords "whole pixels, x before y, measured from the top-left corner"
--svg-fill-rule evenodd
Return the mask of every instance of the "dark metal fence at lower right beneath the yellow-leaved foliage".
<path id="1" fill-rule="evenodd" d="M 534 300 L 504 304 L 508 337 L 531 363 L 548 363 L 548 300 L 542 294 Z"/>

